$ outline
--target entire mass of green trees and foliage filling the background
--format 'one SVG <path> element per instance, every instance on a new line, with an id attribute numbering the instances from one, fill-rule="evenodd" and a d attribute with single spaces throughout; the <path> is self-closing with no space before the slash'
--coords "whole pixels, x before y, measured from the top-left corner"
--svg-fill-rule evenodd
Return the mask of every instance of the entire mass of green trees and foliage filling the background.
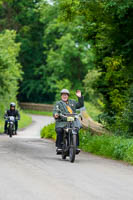
<path id="1" fill-rule="evenodd" d="M 72 98 L 81 89 L 87 100 L 102 105 L 102 123 L 115 134 L 131 136 L 132 13 L 132 0 L 54 0 L 52 5 L 1 0 L 2 113 L 15 101 L 21 76 L 18 57 L 24 71 L 20 101 L 54 102 L 63 86 L 72 91 Z M 6 29 L 16 30 L 16 36 Z"/>

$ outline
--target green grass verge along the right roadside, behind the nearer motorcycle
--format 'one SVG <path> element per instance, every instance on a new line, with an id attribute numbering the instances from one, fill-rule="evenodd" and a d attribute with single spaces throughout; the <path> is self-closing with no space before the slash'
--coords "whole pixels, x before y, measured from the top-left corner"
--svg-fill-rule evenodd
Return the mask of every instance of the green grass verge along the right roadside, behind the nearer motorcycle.
<path id="1" fill-rule="evenodd" d="M 55 124 L 45 126 L 41 130 L 42 138 L 55 140 Z M 89 131 L 80 131 L 80 148 L 98 156 L 104 156 L 114 160 L 123 160 L 133 164 L 133 139 L 109 135 L 91 135 Z"/>

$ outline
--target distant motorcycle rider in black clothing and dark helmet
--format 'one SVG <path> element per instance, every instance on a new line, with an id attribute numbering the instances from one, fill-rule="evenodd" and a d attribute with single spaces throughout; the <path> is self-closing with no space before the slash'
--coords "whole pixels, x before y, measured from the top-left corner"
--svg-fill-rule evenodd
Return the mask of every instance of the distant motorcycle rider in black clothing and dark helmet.
<path id="1" fill-rule="evenodd" d="M 15 134 L 17 134 L 18 129 L 18 120 L 20 120 L 19 111 L 15 109 L 16 104 L 14 102 L 10 103 L 10 110 L 7 110 L 4 115 L 5 126 L 4 126 L 4 133 L 7 133 L 7 124 L 8 124 L 8 117 L 13 116 L 15 117 Z M 17 119 L 16 119 L 17 118 Z"/>

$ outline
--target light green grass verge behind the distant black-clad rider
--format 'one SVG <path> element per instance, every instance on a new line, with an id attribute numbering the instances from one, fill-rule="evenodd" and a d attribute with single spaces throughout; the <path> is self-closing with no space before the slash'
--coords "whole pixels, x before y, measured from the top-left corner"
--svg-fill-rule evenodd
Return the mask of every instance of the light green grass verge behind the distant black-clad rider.
<path id="1" fill-rule="evenodd" d="M 19 128 L 25 128 L 26 126 L 30 125 L 32 123 L 31 116 L 27 115 L 23 111 L 20 111 L 21 120 L 19 121 Z M 0 133 L 3 133 L 4 131 L 4 119 L 0 119 Z"/>

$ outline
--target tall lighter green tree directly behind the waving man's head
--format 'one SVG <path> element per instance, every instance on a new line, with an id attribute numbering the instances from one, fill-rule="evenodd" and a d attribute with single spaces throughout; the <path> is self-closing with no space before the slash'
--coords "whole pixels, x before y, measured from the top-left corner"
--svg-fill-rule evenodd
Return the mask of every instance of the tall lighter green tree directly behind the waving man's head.
<path id="1" fill-rule="evenodd" d="M 73 90 L 83 89 L 82 80 L 93 67 L 94 54 L 88 42 L 79 38 L 78 20 L 73 24 L 58 21 L 58 4 L 41 4 L 41 22 L 44 23 L 44 54 L 46 65 L 38 69 L 44 92 L 56 95 L 60 80 L 71 82 Z M 40 80 L 40 81 L 41 81 Z M 42 84 L 42 83 L 41 83 Z M 64 83 L 65 85 L 65 83 Z M 57 98 L 57 97 L 56 97 Z"/>

